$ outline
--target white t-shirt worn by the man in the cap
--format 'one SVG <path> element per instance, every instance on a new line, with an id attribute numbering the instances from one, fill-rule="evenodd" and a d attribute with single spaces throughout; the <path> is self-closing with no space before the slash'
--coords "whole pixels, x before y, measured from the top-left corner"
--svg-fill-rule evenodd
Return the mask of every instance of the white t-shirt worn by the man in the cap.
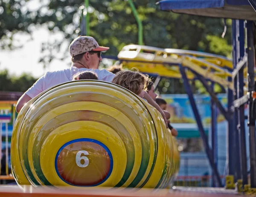
<path id="1" fill-rule="evenodd" d="M 73 79 L 73 75 L 81 71 L 94 71 L 98 75 L 99 80 L 108 82 L 111 82 L 115 76 L 115 74 L 105 69 L 78 69 L 75 66 L 71 66 L 69 69 L 47 72 L 44 76 L 40 77 L 34 85 L 25 92 L 25 94 L 33 98 L 52 86 L 71 81 Z"/>

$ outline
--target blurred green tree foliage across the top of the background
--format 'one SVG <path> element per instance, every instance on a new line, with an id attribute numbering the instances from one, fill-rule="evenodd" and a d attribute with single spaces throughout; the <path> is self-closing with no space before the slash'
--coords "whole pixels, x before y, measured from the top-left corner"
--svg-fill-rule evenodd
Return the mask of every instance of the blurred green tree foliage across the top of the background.
<path id="1" fill-rule="evenodd" d="M 32 3 L 40 3 L 33 7 Z M 189 49 L 229 56 L 231 54 L 231 21 L 227 21 L 224 38 L 222 19 L 190 16 L 160 11 L 157 0 L 133 0 L 143 22 L 143 42 L 160 48 Z M 138 42 L 137 22 L 128 1 L 90 0 L 90 35 L 107 52 L 117 55 L 123 46 Z M 34 5 L 33 4 L 33 5 Z M 12 37 L 18 31 L 31 33 L 33 27 L 46 25 L 52 32 L 63 32 L 71 42 L 81 34 L 83 0 L 0 0 L 0 40 L 3 49 L 13 49 Z M 84 27 L 85 25 L 83 25 Z M 59 50 L 63 40 L 45 43 L 44 50 Z M 66 50 L 67 51 L 67 50 Z M 49 53 L 51 56 L 53 53 Z M 63 57 L 68 57 L 63 54 Z M 48 64 L 55 57 L 41 57 Z"/>

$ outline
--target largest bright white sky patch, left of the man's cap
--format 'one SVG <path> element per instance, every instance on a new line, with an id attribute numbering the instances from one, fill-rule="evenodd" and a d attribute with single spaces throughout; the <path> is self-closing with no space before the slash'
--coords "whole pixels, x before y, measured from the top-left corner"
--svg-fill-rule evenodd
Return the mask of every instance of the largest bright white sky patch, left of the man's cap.
<path id="1" fill-rule="evenodd" d="M 34 77 L 41 77 L 47 71 L 68 68 L 71 65 L 70 57 L 67 57 L 67 60 L 64 61 L 53 60 L 46 69 L 43 68 L 42 63 L 39 63 L 41 44 L 56 37 L 63 38 L 61 34 L 50 34 L 46 28 L 35 30 L 31 36 L 25 33 L 16 34 L 14 37 L 15 44 L 21 44 L 23 47 L 12 51 L 0 51 L 0 71 L 7 69 L 10 74 L 15 74 L 16 76 L 26 72 Z"/>

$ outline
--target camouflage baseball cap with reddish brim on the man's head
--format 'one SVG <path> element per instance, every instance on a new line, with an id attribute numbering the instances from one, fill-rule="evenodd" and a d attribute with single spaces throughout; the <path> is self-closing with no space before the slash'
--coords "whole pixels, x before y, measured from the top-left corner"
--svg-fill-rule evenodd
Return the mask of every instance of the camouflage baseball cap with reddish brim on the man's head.
<path id="1" fill-rule="evenodd" d="M 79 36 L 69 46 L 72 57 L 88 51 L 107 51 L 109 47 L 99 46 L 97 41 L 90 36 Z"/>

